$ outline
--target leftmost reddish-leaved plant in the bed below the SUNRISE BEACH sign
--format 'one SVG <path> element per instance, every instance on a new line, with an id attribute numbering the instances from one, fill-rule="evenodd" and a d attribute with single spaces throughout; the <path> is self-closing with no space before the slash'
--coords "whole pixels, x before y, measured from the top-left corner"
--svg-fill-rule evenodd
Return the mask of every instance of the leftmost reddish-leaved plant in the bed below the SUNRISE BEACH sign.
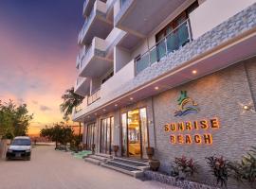
<path id="1" fill-rule="evenodd" d="M 198 166 L 192 159 L 182 156 L 181 158 L 175 158 L 174 163 L 172 163 L 171 175 L 176 180 L 186 180 L 192 177 L 197 172 L 197 169 Z"/>

